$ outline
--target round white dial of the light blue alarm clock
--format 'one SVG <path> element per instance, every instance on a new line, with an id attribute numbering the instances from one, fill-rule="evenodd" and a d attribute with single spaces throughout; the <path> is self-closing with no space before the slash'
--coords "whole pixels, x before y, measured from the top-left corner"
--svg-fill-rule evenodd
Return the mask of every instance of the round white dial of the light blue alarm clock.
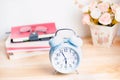
<path id="1" fill-rule="evenodd" d="M 51 60 L 57 71 L 69 73 L 78 67 L 80 56 L 73 48 L 62 47 L 54 51 Z"/>

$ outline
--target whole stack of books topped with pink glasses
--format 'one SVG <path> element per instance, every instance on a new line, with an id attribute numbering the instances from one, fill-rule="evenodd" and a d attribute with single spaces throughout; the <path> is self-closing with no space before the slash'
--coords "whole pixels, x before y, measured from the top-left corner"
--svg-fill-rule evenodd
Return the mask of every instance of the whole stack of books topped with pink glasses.
<path id="1" fill-rule="evenodd" d="M 12 27 L 11 33 L 6 40 L 8 58 L 23 58 L 49 50 L 49 39 L 54 36 L 55 32 L 55 23 Z"/>

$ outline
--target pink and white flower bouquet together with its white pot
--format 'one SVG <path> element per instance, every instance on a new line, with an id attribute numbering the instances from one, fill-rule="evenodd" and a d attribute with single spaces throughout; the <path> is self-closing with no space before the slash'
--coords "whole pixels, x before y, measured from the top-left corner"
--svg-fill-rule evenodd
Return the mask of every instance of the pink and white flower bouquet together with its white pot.
<path id="1" fill-rule="evenodd" d="M 93 44 L 110 47 L 120 23 L 120 5 L 96 0 L 84 6 L 82 11 L 82 21 L 90 26 Z"/>

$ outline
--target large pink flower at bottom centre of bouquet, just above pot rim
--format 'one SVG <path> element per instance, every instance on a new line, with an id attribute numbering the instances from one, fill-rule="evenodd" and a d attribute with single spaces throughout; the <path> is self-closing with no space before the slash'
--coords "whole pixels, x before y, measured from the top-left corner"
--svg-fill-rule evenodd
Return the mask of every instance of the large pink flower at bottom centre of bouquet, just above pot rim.
<path id="1" fill-rule="evenodd" d="M 112 22 L 111 16 L 109 13 L 103 13 L 99 18 L 99 22 L 103 25 L 108 25 Z"/>

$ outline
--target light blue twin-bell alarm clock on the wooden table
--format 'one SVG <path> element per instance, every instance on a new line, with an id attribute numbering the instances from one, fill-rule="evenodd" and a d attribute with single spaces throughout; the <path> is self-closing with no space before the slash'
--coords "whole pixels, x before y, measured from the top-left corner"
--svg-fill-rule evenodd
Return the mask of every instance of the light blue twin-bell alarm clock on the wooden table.
<path id="1" fill-rule="evenodd" d="M 59 29 L 49 44 L 51 46 L 49 58 L 56 71 L 71 73 L 79 67 L 82 40 L 72 29 Z"/>

